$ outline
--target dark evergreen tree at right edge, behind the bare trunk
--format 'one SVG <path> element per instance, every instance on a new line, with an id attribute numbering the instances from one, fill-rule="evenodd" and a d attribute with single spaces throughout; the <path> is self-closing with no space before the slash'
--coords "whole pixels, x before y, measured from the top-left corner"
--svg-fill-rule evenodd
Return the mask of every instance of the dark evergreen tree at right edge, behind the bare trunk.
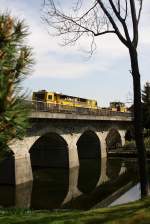
<path id="1" fill-rule="evenodd" d="M 142 91 L 144 128 L 150 129 L 150 83 L 146 82 Z"/>

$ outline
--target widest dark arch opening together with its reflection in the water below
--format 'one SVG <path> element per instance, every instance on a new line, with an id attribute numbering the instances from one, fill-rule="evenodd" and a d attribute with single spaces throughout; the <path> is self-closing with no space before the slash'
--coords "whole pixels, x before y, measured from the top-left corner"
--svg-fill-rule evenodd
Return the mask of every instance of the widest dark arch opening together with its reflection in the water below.
<path id="1" fill-rule="evenodd" d="M 31 208 L 59 208 L 69 184 L 67 143 L 58 134 L 47 133 L 34 143 L 30 155 L 33 167 Z"/>

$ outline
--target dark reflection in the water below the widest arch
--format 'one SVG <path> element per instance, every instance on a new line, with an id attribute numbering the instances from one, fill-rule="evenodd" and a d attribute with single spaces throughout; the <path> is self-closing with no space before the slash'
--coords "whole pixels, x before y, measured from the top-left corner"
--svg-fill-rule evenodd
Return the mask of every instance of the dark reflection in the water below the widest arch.
<path id="1" fill-rule="evenodd" d="M 63 168 L 35 169 L 31 208 L 56 209 L 64 201 L 69 185 L 69 170 Z"/>

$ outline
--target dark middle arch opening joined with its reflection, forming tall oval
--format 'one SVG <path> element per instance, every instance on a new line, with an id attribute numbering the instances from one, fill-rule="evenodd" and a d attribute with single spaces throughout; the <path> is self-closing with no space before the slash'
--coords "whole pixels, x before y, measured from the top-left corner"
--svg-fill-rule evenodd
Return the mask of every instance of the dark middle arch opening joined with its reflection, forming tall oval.
<path id="1" fill-rule="evenodd" d="M 85 131 L 77 142 L 79 156 L 78 188 L 83 193 L 92 192 L 100 177 L 100 141 L 93 131 Z"/>

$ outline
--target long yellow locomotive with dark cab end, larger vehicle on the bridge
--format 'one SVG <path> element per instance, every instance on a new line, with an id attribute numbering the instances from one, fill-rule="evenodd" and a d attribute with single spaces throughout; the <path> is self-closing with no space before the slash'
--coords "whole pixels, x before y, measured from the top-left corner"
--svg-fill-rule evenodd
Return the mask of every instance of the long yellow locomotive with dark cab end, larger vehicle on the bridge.
<path id="1" fill-rule="evenodd" d="M 39 102 L 42 101 L 47 104 L 62 105 L 66 107 L 70 106 L 70 107 L 82 107 L 91 109 L 98 108 L 96 100 L 69 96 L 56 92 L 48 92 L 46 90 L 33 92 L 32 100 Z"/>

